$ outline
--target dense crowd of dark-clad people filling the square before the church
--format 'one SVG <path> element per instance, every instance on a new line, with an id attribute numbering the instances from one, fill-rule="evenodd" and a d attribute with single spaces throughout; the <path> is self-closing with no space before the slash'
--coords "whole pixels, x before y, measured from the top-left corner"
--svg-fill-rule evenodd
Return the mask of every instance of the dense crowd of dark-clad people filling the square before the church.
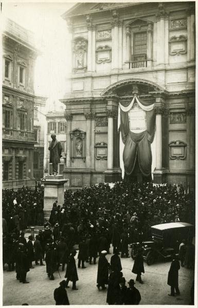
<path id="1" fill-rule="evenodd" d="M 40 183 L 34 190 L 28 187 L 3 190 L 3 265 L 8 264 L 8 271 L 15 269 L 16 279 L 23 283 L 28 283 L 26 274 L 33 268 L 33 261 L 35 265 L 46 265 L 50 280 L 55 279 L 53 274 L 61 265 L 62 271 L 66 265 L 66 280 L 60 285 L 60 292 L 61 287 L 68 287 L 69 281 L 73 282 L 72 289 L 78 290 L 74 249 L 78 244 L 78 267 L 86 268 L 85 262 L 98 263 L 97 287 L 104 290 L 108 284 L 109 304 L 130 304 L 132 293 L 137 295 L 136 304 L 141 299 L 132 279 L 128 288 L 125 285 L 119 253 L 121 258 L 127 258 L 130 243 L 151 239 L 152 225 L 195 223 L 193 192 L 187 193 L 182 185 L 117 182 L 112 188 L 100 183 L 76 191 L 68 189 L 64 204 L 53 203 L 49 221 L 44 221 L 43 199 Z M 24 230 L 31 225 L 44 225 L 44 230 L 39 230 L 35 240 L 29 236 L 27 242 Z M 110 253 L 111 244 L 114 258 L 108 263 L 105 255 Z M 185 266 L 186 243 L 181 244 L 182 266 Z M 140 283 L 142 260 L 139 251 L 132 271 Z"/>

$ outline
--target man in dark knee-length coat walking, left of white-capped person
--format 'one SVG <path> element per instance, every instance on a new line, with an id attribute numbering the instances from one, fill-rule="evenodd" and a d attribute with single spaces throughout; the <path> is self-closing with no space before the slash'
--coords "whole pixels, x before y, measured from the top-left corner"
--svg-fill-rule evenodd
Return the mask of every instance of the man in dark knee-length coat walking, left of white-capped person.
<path id="1" fill-rule="evenodd" d="M 77 273 L 77 268 L 76 268 L 76 261 L 74 258 L 75 256 L 76 256 L 76 251 L 73 250 L 69 256 L 66 273 L 65 273 L 65 278 L 67 278 L 66 287 L 69 287 L 68 283 L 70 280 L 73 282 L 72 290 L 78 290 L 78 288 L 76 287 L 76 282 L 78 281 L 78 273 Z"/>

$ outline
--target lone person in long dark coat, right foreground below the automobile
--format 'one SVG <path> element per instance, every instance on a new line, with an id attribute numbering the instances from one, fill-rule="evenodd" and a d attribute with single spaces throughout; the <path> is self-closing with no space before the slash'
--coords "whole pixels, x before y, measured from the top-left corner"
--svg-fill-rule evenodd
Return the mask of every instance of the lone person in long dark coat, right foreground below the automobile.
<path id="1" fill-rule="evenodd" d="M 171 287 L 171 294 L 168 294 L 169 296 L 175 296 L 175 294 L 180 294 L 178 288 L 178 270 L 180 269 L 180 264 L 175 255 L 172 256 L 172 259 L 173 261 L 169 269 L 167 282 L 167 284 Z"/>

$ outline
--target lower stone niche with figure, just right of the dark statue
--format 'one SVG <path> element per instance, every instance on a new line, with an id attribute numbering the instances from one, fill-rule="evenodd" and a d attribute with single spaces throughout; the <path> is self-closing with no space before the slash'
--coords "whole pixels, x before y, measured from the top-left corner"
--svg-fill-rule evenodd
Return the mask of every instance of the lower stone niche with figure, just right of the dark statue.
<path id="1" fill-rule="evenodd" d="M 71 162 L 82 159 L 85 162 L 85 140 L 86 132 L 76 128 L 69 132 L 71 139 Z"/>

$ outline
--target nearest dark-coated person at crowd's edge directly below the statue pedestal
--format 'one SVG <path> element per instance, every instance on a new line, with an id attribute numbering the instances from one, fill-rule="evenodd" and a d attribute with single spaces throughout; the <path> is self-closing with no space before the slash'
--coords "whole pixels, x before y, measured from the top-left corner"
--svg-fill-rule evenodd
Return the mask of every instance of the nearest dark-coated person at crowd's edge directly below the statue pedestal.
<path id="1" fill-rule="evenodd" d="M 57 249 L 54 247 L 52 243 L 49 244 L 49 249 L 46 252 L 45 262 L 46 262 L 47 276 L 49 277 L 50 280 L 55 280 L 53 273 L 57 271 L 58 253 Z"/>

